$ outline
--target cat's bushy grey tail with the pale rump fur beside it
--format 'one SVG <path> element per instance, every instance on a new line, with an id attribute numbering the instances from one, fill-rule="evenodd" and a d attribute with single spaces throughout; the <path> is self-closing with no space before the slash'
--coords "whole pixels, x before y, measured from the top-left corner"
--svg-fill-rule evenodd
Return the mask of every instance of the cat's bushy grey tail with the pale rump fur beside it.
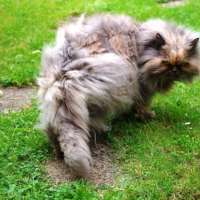
<path id="1" fill-rule="evenodd" d="M 65 162 L 77 177 L 87 178 L 90 174 L 92 157 L 88 147 L 89 114 L 86 105 L 86 88 L 76 84 L 70 72 L 62 74 L 58 64 L 59 55 L 50 47 L 43 51 L 39 85 L 41 125 L 48 136 L 57 138 L 55 150 L 64 153 Z M 51 133 L 48 127 L 53 127 Z M 50 137 L 52 138 L 52 137 Z M 60 145 L 60 148 L 56 146 Z M 57 152 L 59 153 L 59 152 Z"/>

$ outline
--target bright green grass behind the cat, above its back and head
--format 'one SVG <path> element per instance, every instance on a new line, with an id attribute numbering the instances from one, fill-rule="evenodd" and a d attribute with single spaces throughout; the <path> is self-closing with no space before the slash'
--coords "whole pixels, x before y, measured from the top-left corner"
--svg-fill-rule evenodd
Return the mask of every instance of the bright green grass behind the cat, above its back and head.
<path id="1" fill-rule="evenodd" d="M 124 13 L 144 21 L 165 18 L 199 30 L 198 0 L 186 6 L 163 8 L 156 0 L 0 0 L 0 84 L 26 86 L 35 84 L 40 69 L 42 47 L 55 38 L 57 26 L 69 15 L 81 13 Z"/>

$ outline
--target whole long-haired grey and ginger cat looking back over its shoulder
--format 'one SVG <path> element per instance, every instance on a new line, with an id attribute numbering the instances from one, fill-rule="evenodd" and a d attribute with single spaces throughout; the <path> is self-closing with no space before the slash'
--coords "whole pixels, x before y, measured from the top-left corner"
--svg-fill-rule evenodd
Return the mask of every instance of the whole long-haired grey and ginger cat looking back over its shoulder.
<path id="1" fill-rule="evenodd" d="M 156 92 L 199 74 L 198 40 L 183 27 L 122 15 L 82 16 L 59 28 L 37 80 L 41 126 L 77 177 L 89 176 L 90 132 L 105 131 L 107 115 L 153 118 Z"/>

